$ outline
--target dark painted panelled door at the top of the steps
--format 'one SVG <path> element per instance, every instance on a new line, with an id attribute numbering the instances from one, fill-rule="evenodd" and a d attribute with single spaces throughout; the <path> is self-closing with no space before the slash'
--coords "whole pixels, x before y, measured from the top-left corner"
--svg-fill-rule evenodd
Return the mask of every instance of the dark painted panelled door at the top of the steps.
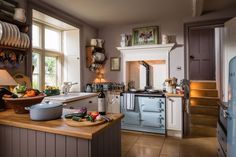
<path id="1" fill-rule="evenodd" d="M 214 28 L 189 30 L 190 80 L 215 80 Z"/>

